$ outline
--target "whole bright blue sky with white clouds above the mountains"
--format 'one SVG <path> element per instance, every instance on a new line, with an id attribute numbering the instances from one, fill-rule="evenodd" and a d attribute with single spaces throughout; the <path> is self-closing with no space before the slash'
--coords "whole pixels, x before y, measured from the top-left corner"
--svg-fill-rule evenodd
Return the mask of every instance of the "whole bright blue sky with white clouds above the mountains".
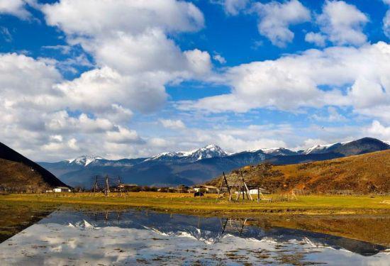
<path id="1" fill-rule="evenodd" d="M 390 140 L 390 0 L 0 0 L 0 142 L 32 160 Z"/>

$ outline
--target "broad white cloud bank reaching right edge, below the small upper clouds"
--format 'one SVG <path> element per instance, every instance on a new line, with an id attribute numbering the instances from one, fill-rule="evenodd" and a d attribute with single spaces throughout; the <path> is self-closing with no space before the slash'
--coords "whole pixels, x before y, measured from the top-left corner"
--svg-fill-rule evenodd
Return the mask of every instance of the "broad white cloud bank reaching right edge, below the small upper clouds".
<path id="1" fill-rule="evenodd" d="M 180 109 L 246 112 L 256 108 L 352 106 L 357 113 L 390 118 L 390 45 L 334 47 L 251 62 L 228 69 L 230 94 L 183 101 Z M 294 66 L 294 67 L 291 67 Z M 352 84 L 352 86 L 351 86 Z M 328 89 L 322 89 L 323 87 Z M 368 114 L 368 113 L 367 113 Z"/>

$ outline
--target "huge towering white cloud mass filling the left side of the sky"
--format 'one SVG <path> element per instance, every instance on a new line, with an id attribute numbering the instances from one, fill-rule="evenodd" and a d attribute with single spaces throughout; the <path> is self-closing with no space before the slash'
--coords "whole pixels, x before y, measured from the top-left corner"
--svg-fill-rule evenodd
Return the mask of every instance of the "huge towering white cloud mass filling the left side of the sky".
<path id="1" fill-rule="evenodd" d="M 60 0 L 51 4 L 0 1 L 0 13 L 27 18 L 26 5 L 66 35 L 65 53 L 82 48 L 72 62 L 26 55 L 0 55 L 0 137 L 33 159 L 80 153 L 128 157 L 147 153 L 145 139 L 130 129 L 135 113 L 164 106 L 165 85 L 211 72 L 211 57 L 182 51 L 169 35 L 199 31 L 203 13 L 176 0 Z M 93 65 L 83 52 L 89 54 Z M 65 80 L 58 68 L 92 69 Z M 28 81 L 26 83 L 26 81 Z M 18 137 L 20 136 L 20 137 Z M 61 137 L 60 137 L 61 136 Z M 128 145 L 131 143 L 132 145 Z M 38 153 L 39 150 L 56 153 Z"/>

